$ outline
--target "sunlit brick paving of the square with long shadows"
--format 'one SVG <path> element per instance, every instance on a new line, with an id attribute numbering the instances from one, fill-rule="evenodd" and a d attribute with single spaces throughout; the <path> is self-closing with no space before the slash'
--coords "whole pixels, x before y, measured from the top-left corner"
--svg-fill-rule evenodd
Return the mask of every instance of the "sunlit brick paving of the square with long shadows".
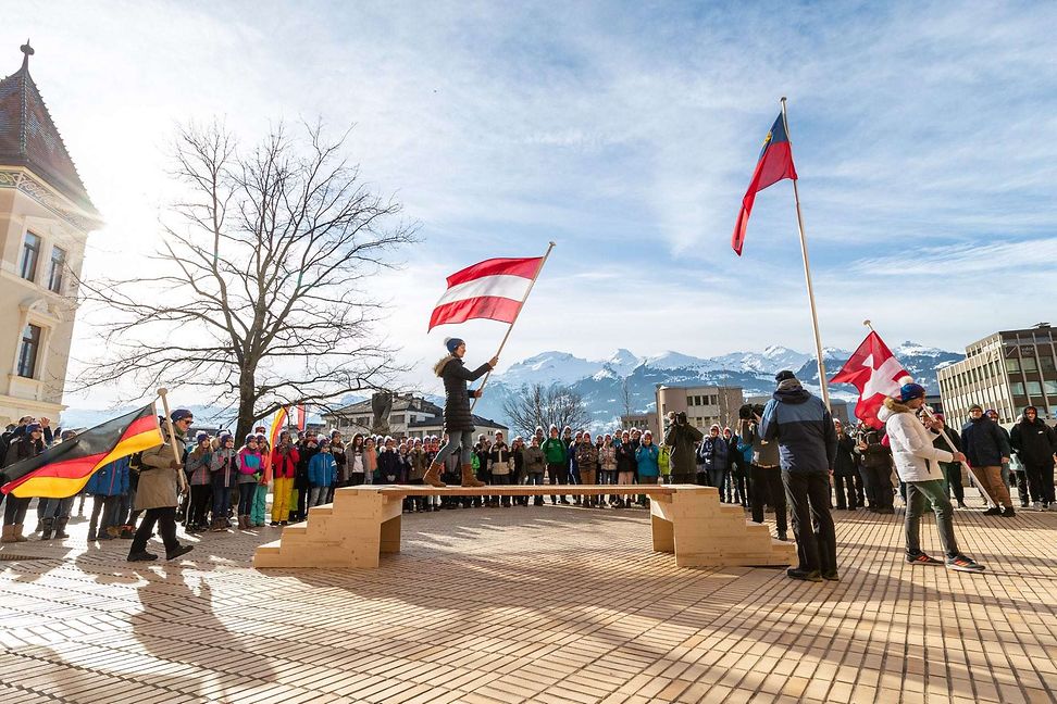
<path id="1" fill-rule="evenodd" d="M 129 564 L 74 523 L 0 550 L 0 702 L 1057 701 L 1057 513 L 958 511 L 984 575 L 906 565 L 898 515 L 835 515 L 822 584 L 676 568 L 641 510 L 406 515 L 362 571 L 253 570 L 273 528 Z"/>

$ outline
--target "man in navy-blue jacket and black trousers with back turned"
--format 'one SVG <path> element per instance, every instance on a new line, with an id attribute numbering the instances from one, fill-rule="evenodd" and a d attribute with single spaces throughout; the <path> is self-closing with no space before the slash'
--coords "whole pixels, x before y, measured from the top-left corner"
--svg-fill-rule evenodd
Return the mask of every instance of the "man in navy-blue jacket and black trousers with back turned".
<path id="1" fill-rule="evenodd" d="M 779 443 L 782 481 L 793 510 L 799 565 L 786 574 L 807 581 L 837 580 L 829 476 L 836 460 L 833 418 L 792 372 L 779 372 L 774 379 L 778 390 L 763 407 L 760 431 L 764 440 Z"/>

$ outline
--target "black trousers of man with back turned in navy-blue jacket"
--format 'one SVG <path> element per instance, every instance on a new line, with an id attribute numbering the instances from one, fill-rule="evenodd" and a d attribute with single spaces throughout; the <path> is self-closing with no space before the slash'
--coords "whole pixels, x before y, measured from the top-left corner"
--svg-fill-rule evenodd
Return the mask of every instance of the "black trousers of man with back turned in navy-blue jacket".
<path id="1" fill-rule="evenodd" d="M 782 472 L 793 511 L 793 535 L 800 569 L 836 571 L 836 531 L 830 515 L 830 477 L 825 472 Z"/>

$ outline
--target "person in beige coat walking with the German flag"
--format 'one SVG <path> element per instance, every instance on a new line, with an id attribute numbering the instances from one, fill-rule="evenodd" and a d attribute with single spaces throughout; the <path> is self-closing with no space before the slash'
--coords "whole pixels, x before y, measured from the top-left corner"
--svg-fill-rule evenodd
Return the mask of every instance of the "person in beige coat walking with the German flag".
<path id="1" fill-rule="evenodd" d="M 184 447 L 184 435 L 195 417 L 187 408 L 176 408 L 169 417 L 173 424 L 172 436 L 167 424 L 163 424 L 162 444 L 144 450 L 139 456 L 135 507 L 145 513 L 128 548 L 128 562 L 158 558 L 158 555 L 147 552 L 147 541 L 154 532 L 156 524 L 165 544 L 165 560 L 175 560 L 192 549 L 191 545 L 181 545 L 176 540 L 177 491 L 183 486 L 184 466 L 173 458 L 173 445 Z"/>

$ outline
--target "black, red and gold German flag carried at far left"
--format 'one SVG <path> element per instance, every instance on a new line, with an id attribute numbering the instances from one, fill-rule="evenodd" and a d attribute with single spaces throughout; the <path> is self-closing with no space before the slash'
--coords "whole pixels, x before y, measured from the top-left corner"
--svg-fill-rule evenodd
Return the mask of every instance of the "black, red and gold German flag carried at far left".
<path id="1" fill-rule="evenodd" d="M 80 491 L 103 465 L 162 442 L 154 404 L 148 403 L 5 467 L 0 491 L 20 499 L 65 499 Z"/>

